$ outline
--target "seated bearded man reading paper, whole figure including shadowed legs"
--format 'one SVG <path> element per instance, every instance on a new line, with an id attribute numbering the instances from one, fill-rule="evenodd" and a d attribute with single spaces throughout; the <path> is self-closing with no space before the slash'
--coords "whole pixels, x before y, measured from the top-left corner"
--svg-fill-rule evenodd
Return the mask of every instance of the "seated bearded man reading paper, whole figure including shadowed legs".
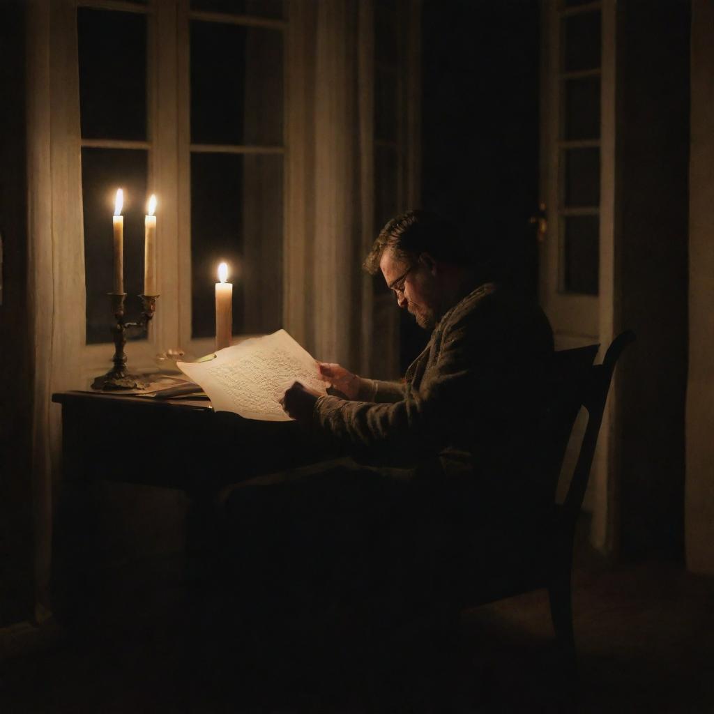
<path id="1" fill-rule="evenodd" d="M 389 221 L 365 267 L 431 331 L 428 345 L 403 382 L 319 363 L 331 396 L 295 383 L 281 403 L 346 458 L 238 484 L 223 503 L 246 600 L 287 588 L 394 628 L 458 599 L 464 563 L 488 567 L 494 529 L 521 528 L 551 496 L 528 451 L 553 334 L 430 213 Z M 262 589 L 246 595 L 246 581 Z"/>

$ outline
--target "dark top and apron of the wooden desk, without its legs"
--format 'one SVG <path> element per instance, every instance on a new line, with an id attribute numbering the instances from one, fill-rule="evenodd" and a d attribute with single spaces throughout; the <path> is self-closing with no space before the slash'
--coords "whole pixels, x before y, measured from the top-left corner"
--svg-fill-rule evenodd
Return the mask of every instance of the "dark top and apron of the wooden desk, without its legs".
<path id="1" fill-rule="evenodd" d="M 300 463 L 319 448 L 292 421 L 243 419 L 209 401 L 59 392 L 63 481 L 103 478 L 215 491 Z"/>

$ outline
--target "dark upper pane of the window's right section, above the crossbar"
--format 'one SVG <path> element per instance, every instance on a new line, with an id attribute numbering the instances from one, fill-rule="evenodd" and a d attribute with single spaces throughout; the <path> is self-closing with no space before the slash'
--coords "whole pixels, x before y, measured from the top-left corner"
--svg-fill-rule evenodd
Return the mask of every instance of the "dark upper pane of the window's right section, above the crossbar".
<path id="1" fill-rule="evenodd" d="M 191 23 L 193 144 L 283 143 L 283 35 Z"/>

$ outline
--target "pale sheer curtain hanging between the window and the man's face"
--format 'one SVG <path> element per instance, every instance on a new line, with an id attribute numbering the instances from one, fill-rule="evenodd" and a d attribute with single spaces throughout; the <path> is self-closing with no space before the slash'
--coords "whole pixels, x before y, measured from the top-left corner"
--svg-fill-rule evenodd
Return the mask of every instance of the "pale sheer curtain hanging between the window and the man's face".
<path id="1" fill-rule="evenodd" d="M 373 4 L 288 4 L 286 329 L 353 370 L 371 349 Z M 396 339 L 396 335 L 393 336 Z"/>

